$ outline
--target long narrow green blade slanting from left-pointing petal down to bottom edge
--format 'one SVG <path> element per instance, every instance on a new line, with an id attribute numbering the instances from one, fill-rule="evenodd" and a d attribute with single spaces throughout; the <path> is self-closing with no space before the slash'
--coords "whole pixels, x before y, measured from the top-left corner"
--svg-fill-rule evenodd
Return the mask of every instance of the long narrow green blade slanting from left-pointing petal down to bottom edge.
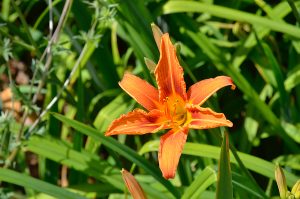
<path id="1" fill-rule="evenodd" d="M 87 126 L 83 123 L 80 123 L 75 120 L 71 120 L 69 118 L 66 118 L 63 115 L 52 113 L 54 117 L 56 117 L 58 120 L 62 121 L 66 125 L 70 125 L 77 131 L 92 137 L 94 140 L 97 140 L 101 142 L 103 145 L 108 147 L 109 149 L 115 151 L 116 153 L 120 154 L 121 156 L 125 157 L 126 159 L 132 161 L 139 167 L 143 168 L 147 173 L 152 175 L 157 181 L 159 181 L 162 185 L 164 185 L 176 198 L 180 197 L 180 194 L 177 189 L 167 180 L 165 180 L 162 175 L 161 171 L 158 170 L 158 168 L 152 164 L 150 164 L 148 161 L 146 161 L 143 157 L 138 155 L 135 151 L 133 151 L 131 148 L 120 144 L 118 141 L 111 137 L 105 137 L 103 134 L 100 134 L 98 130 Z"/>

